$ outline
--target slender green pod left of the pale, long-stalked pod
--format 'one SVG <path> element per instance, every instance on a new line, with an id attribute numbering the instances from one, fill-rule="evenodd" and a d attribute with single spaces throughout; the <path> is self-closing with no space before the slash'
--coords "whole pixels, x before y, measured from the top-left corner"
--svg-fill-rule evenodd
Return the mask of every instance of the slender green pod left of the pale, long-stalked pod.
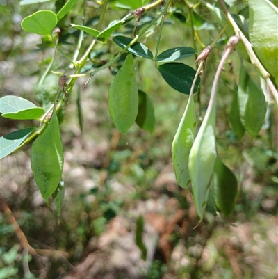
<path id="1" fill-rule="evenodd" d="M 188 104 L 179 123 L 179 127 L 172 143 L 172 162 L 176 180 L 182 188 L 188 188 L 190 175 L 188 158 L 197 134 L 196 113 L 193 95 L 190 95 Z"/>

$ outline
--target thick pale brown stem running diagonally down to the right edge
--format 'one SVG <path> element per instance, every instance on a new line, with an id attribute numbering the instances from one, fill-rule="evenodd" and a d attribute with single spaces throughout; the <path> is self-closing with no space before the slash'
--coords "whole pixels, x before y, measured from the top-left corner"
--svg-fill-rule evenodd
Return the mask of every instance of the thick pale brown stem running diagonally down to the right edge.
<path id="1" fill-rule="evenodd" d="M 263 65 L 261 64 L 259 59 L 257 58 L 256 54 L 254 53 L 251 43 L 249 42 L 249 40 L 247 40 L 245 35 L 243 35 L 243 32 L 240 31 L 240 29 L 239 29 L 238 25 L 236 24 L 236 22 L 234 21 L 233 17 L 231 17 L 229 10 L 227 9 L 227 7 L 224 4 L 224 1 L 218 0 L 218 3 L 220 4 L 227 19 L 233 26 L 236 35 L 238 35 L 238 37 L 243 41 L 243 45 L 245 45 L 245 49 L 247 51 L 247 54 L 250 57 L 250 61 L 251 61 L 252 65 L 255 65 L 257 67 L 257 69 L 259 70 L 259 72 L 261 72 L 261 75 L 266 80 L 266 83 L 268 84 L 270 91 L 278 104 L 278 92 L 275 89 L 275 86 L 273 85 L 272 81 L 270 80 L 270 74 L 265 70 L 265 68 L 263 67 Z"/>

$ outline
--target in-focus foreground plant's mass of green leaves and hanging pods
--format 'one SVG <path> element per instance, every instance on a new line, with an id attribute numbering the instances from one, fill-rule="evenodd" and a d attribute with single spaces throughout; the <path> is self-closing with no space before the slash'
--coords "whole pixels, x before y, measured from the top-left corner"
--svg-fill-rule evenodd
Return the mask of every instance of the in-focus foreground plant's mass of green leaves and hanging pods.
<path id="1" fill-rule="evenodd" d="M 30 5 L 42 2 L 44 1 L 28 0 L 21 1 L 20 4 Z M 272 79 L 277 83 L 278 55 L 275 37 L 277 31 L 272 24 L 272 22 L 277 22 L 277 8 L 266 0 L 250 1 L 249 6 L 245 7 L 249 8 L 249 14 L 242 9 L 234 15 L 230 15 L 223 7 L 220 8 L 221 5 L 200 3 L 190 6 L 187 2 L 178 2 L 167 0 L 165 3 L 158 1 L 147 5 L 149 1 L 143 0 L 103 1 L 103 3 L 94 1 L 93 5 L 97 8 L 94 9 L 94 13 L 91 13 L 92 11 L 86 6 L 88 3 L 81 5 L 81 1 L 76 0 L 60 1 L 56 5 L 56 13 L 51 10 L 38 10 L 22 20 L 22 29 L 42 36 L 42 44 L 38 51 L 49 51 L 51 48 L 55 48 L 56 51 L 51 54 L 51 58 L 38 65 L 38 68 L 42 68 L 42 70 L 38 74 L 35 94 L 43 108 L 21 97 L 5 96 L 0 99 L 3 118 L 40 121 L 40 126 L 37 128 L 19 129 L 2 136 L 1 158 L 36 137 L 31 147 L 31 166 L 35 181 L 47 204 L 49 204 L 49 198 L 53 197 L 59 220 L 65 191 L 62 178 L 63 143 L 60 135 L 60 122 L 67 111 L 67 106 L 65 106 L 67 95 L 71 95 L 79 77 L 88 77 L 88 81 L 83 86 L 85 88 L 89 86 L 90 79 L 95 77 L 98 72 L 109 69 L 112 74 L 115 74 L 108 90 L 108 111 L 115 127 L 127 136 L 129 129 L 136 122 L 141 129 L 154 133 L 156 129 L 154 115 L 158 103 L 152 103 L 150 92 L 145 89 L 147 81 L 145 83 L 144 81 L 149 77 L 144 75 L 144 72 L 140 72 L 142 65 L 149 65 L 147 63 L 154 63 L 154 72 L 161 74 L 161 77 L 170 86 L 169 89 L 189 95 L 188 104 L 172 143 L 172 161 L 178 184 L 182 188 L 190 189 L 191 182 L 193 200 L 201 221 L 204 218 L 208 193 L 211 190 L 213 190 L 211 192 L 213 199 L 221 212 L 229 215 L 234 208 L 238 196 L 236 176 L 222 163 L 217 154 L 216 120 L 218 115 L 216 111 L 219 102 L 213 97 L 201 98 L 204 94 L 202 93 L 202 82 L 206 83 L 206 76 L 204 79 L 202 78 L 201 82 L 202 76 L 197 74 L 193 68 L 193 61 L 188 58 L 199 52 L 197 43 L 204 48 L 204 45 L 213 39 L 211 47 L 215 49 L 221 47 L 219 52 L 222 52 L 221 42 L 236 33 L 242 39 L 236 46 L 240 58 L 252 61 L 252 64 L 263 72 L 264 79 L 268 79 L 268 74 L 264 72 L 268 70 Z M 158 5 L 162 5 L 162 8 Z M 117 10 L 117 8 L 138 9 L 142 6 L 145 8 L 133 10 L 133 13 Z M 51 8 L 51 6 L 49 7 Z M 188 14 L 183 11 L 183 8 L 188 11 Z M 83 14 L 79 13 L 80 10 L 83 10 Z M 117 19 L 108 16 L 107 11 L 109 10 L 113 10 L 113 13 L 119 15 Z M 154 13 L 151 12 L 152 10 Z M 204 10 L 208 11 L 209 15 L 202 13 Z M 123 14 L 124 16 L 122 16 Z M 201 16 L 201 14 L 204 15 Z M 165 19 L 167 15 L 177 22 L 172 22 L 172 19 L 167 21 Z M 210 22 L 211 18 L 213 18 L 213 22 Z M 172 35 L 171 32 L 163 33 L 167 24 L 180 24 L 182 32 L 190 30 L 194 48 L 175 47 L 173 41 L 168 40 L 168 37 L 170 38 Z M 218 24 L 222 26 L 222 31 L 218 30 Z M 250 32 L 248 32 L 248 24 Z M 60 30 L 54 32 L 57 25 L 60 26 Z M 188 25 L 190 25 L 190 29 Z M 201 33 L 202 36 L 200 36 L 197 31 L 204 33 Z M 206 38 L 210 34 L 208 31 L 211 31 L 215 38 L 207 40 Z M 256 56 L 254 57 L 252 49 L 250 49 L 248 37 L 250 37 L 250 42 L 254 46 L 259 60 Z M 160 44 L 163 40 L 166 40 L 167 46 L 159 54 Z M 117 46 L 120 46 L 120 51 L 115 50 Z M 155 48 L 154 54 L 150 50 L 153 48 Z M 185 59 L 188 59 L 187 63 L 175 62 Z M 215 61 L 218 60 L 220 60 L 219 57 Z M 69 61 L 70 65 L 68 65 Z M 202 61 L 205 65 L 206 57 L 198 58 L 196 61 Z M 209 56 L 208 63 L 212 63 L 209 61 Z M 59 84 L 54 78 L 54 74 L 64 76 L 60 68 L 63 68 L 63 72 L 72 71 L 72 74 L 65 75 L 68 79 L 67 83 Z M 206 72 L 205 67 L 203 70 Z M 243 65 L 240 67 L 239 74 L 238 72 L 235 74 L 236 80 L 239 79 L 239 82 L 234 86 L 238 88 L 237 94 L 232 96 L 233 99 L 229 104 L 231 107 L 229 120 L 238 138 L 243 138 L 245 131 L 255 138 L 265 122 L 268 100 L 265 100 L 263 90 L 252 80 L 252 74 L 249 73 L 249 70 L 245 70 Z M 207 72 L 207 75 L 213 77 L 214 73 Z M 163 79 L 160 80 L 163 81 Z M 142 80 L 140 86 L 139 80 Z M 148 94 L 138 88 L 146 90 Z M 193 93 L 196 92 L 198 92 L 195 94 L 197 97 L 194 97 Z M 76 111 L 79 126 L 82 129 L 81 93 L 78 94 Z M 273 88 L 272 94 L 277 94 L 273 93 Z M 55 100 L 54 95 L 56 95 Z M 221 92 L 222 95 L 225 95 L 224 90 Z M 172 98 L 174 99 L 174 97 Z M 210 98 L 209 102 L 208 98 Z M 198 110 L 195 108 L 196 104 L 199 106 Z M 206 107 L 207 104 L 208 110 L 202 120 L 202 107 Z M 163 113 L 166 114 L 166 111 L 169 113 L 171 108 L 165 104 Z M 175 112 L 172 111 L 173 114 Z M 50 120 L 49 115 L 51 115 Z M 202 123 L 198 131 L 199 119 L 202 120 Z M 269 125 L 270 130 L 271 125 Z M 120 169 L 120 163 L 112 159 L 109 168 L 111 173 L 117 172 Z M 133 165 L 133 172 L 139 173 L 138 177 L 140 177 L 140 171 L 141 168 Z M 142 180 L 142 177 L 140 179 Z M 138 178 L 138 181 L 140 179 Z M 227 184 L 230 185 L 228 190 Z M 113 209 L 107 210 L 106 213 L 109 216 L 111 214 L 113 216 L 115 213 Z M 108 216 L 106 217 L 108 220 Z M 105 223 L 101 218 L 99 217 L 99 222 L 102 225 L 99 228 L 102 228 Z"/>

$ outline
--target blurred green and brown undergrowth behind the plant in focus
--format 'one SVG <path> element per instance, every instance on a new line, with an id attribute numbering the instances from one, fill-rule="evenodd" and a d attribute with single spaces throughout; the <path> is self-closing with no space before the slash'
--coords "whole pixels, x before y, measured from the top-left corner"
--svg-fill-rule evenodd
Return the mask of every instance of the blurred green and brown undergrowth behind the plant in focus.
<path id="1" fill-rule="evenodd" d="M 243 1 L 231 2 L 234 13 L 246 7 Z M 17 95 L 39 104 L 40 95 L 35 93 L 35 83 L 47 67 L 53 50 L 48 48 L 47 42 L 42 44 L 40 36 L 22 31 L 20 23 L 38 9 L 55 10 L 55 3 L 26 6 L 19 6 L 15 0 L 1 0 L 0 3 L 1 96 Z M 96 20 L 99 10 L 95 7 L 98 5 L 95 1 L 88 3 L 91 6 L 88 5 L 86 18 Z M 277 4 L 277 1 L 273 3 Z M 174 4 L 183 9 L 187 19 L 185 4 L 181 1 L 174 1 Z M 80 10 L 81 3 L 70 16 L 76 17 Z M 202 6 L 195 12 L 195 29 L 202 43 L 209 45 L 219 31 L 215 30 L 208 11 Z M 105 24 L 111 18 L 120 19 L 125 13 L 121 9 L 108 10 Z M 70 22 L 69 17 L 65 19 L 65 26 L 67 21 Z M 78 32 L 73 33 L 70 28 L 65 30 L 63 49 L 69 54 L 74 51 Z M 152 51 L 156 46 L 156 35 L 154 30 L 144 42 Z M 202 75 L 198 124 L 206 111 L 213 72 L 225 42 L 218 42 L 208 56 Z M 87 36 L 83 45 L 89 43 Z M 190 23 L 168 18 L 160 52 L 177 46 L 194 47 Z M 111 52 L 101 59 L 110 59 L 119 50 L 112 42 L 108 42 L 108 49 Z M 197 53 L 201 50 L 197 44 Z M 193 57 L 186 63 L 195 67 L 194 61 Z M 102 277 L 91 275 L 88 278 L 277 278 L 277 108 L 272 108 L 271 132 L 262 129 L 256 138 L 245 134 L 238 141 L 229 124 L 231 99 L 235 82 L 238 83 L 234 73 L 238 73 L 240 67 L 240 58 L 234 52 L 225 65 L 218 87 L 217 139 L 220 157 L 238 177 L 240 194 L 228 220 L 215 214 L 213 206 L 208 206 L 206 218 L 193 229 L 198 222 L 193 201 L 190 193 L 175 182 L 171 162 L 172 139 L 188 96 L 167 86 L 152 61 L 136 58 L 135 64 L 138 88 L 148 93 L 154 104 L 154 133 L 142 131 L 136 124 L 127 137 L 115 129 L 108 113 L 108 88 L 113 79 L 110 70 L 99 72 L 85 90 L 82 84 L 86 79 L 80 79 L 69 96 L 61 125 L 65 148 L 65 200 L 60 225 L 52 209 L 54 205 L 47 207 L 35 185 L 30 146 L 1 160 L 1 196 L 28 243 L 36 249 L 36 254 L 31 255 L 22 248 L 11 216 L 3 210 L 1 278 L 46 278 L 44 272 L 47 278 L 63 278 L 69 272 L 72 272 L 71 278 L 79 278 L 73 266 L 94 253 L 104 262 L 105 269 L 110 262 L 107 255 L 101 254 L 104 250 L 99 244 L 101 239 L 104 241 L 109 230 L 117 231 L 118 224 L 125 228 L 120 236 L 131 234 L 135 242 L 136 219 L 141 215 L 145 220 L 143 244 L 147 243 L 147 226 L 157 237 L 152 255 L 151 246 L 145 245 L 147 265 L 138 259 L 142 268 L 137 275 L 115 268 L 111 273 L 101 271 L 104 272 Z M 67 61 L 59 54 L 52 70 L 71 74 Z M 248 70 L 258 81 L 256 70 L 250 66 Z M 56 88 L 57 80 L 54 74 L 49 75 L 47 86 Z M 82 113 L 82 131 L 78 113 Z M 28 125 L 38 126 L 38 123 L 1 118 L 1 136 Z M 127 225 L 121 220 L 127 220 Z M 111 245 L 106 252 L 107 249 L 112 253 L 116 248 Z M 134 249 L 139 248 L 134 246 Z M 90 274 L 85 267 L 83 272 Z"/>

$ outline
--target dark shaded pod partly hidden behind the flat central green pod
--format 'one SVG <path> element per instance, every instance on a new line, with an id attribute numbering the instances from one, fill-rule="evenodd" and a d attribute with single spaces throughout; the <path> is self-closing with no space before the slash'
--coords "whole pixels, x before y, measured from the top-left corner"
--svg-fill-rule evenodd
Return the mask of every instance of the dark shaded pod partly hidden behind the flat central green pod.
<path id="1" fill-rule="evenodd" d="M 145 92 L 138 90 L 138 114 L 136 117 L 136 123 L 138 126 L 151 133 L 154 131 L 154 124 L 156 119 L 154 118 L 154 106 L 152 100 Z"/>

